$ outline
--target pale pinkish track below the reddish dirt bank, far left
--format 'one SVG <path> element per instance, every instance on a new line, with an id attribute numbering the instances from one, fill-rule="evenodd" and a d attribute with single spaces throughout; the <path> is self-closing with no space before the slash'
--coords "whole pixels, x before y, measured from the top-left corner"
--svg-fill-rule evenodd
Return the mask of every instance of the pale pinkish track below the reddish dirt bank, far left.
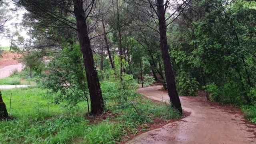
<path id="1" fill-rule="evenodd" d="M 0 68 L 0 78 L 6 78 L 10 76 L 14 72 L 14 70 L 17 70 L 18 72 L 20 72 L 22 69 L 23 69 L 22 64 L 12 64 L 12 65 Z"/>

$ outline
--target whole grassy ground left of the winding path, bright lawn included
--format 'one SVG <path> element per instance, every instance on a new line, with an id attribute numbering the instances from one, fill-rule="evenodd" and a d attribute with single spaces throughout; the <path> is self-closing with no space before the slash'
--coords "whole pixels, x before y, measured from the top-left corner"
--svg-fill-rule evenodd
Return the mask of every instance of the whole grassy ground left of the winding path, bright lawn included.
<path id="1" fill-rule="evenodd" d="M 14 120 L 0 122 L 2 144 L 115 144 L 126 134 L 136 134 L 137 126 L 151 123 L 156 117 L 166 120 L 180 117 L 170 106 L 136 95 L 125 104 L 108 100 L 106 107 L 116 117 L 90 124 L 84 117 L 85 102 L 67 108 L 64 104 L 54 104 L 52 95 L 47 97 L 47 90 L 42 88 L 3 90 L 8 111 L 11 93 Z"/>

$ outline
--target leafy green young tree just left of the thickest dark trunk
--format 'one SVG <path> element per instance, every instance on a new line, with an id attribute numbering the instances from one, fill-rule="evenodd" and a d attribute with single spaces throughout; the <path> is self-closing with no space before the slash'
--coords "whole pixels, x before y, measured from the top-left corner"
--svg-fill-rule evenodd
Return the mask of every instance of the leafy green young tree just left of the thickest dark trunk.
<path id="1" fill-rule="evenodd" d="M 41 83 L 56 93 L 56 103 L 65 101 L 66 106 L 76 106 L 79 102 L 88 101 L 88 86 L 78 44 L 64 45 L 60 55 L 49 62 L 47 69 L 48 74 Z"/>

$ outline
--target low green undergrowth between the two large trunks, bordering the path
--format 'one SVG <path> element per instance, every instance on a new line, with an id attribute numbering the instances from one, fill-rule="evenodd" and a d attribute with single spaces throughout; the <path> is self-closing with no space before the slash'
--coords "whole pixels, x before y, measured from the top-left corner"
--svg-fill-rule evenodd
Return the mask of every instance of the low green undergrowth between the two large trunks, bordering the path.
<path id="1" fill-rule="evenodd" d="M 137 84 L 130 75 L 124 75 L 122 82 L 104 81 L 101 84 L 106 108 L 113 113 L 121 114 L 119 121 L 135 129 L 143 123 L 152 122 L 154 118 L 176 119 L 180 115 L 170 105 L 156 104 L 136 93 Z"/>

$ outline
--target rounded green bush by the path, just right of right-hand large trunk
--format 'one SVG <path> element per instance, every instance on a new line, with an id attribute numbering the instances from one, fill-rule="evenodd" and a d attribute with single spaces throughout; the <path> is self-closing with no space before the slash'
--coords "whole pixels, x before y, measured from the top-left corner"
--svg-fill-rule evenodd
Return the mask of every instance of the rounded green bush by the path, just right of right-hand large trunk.
<path id="1" fill-rule="evenodd" d="M 197 96 L 199 83 L 196 78 L 190 78 L 188 73 L 180 72 L 177 80 L 177 89 L 182 96 Z"/>

